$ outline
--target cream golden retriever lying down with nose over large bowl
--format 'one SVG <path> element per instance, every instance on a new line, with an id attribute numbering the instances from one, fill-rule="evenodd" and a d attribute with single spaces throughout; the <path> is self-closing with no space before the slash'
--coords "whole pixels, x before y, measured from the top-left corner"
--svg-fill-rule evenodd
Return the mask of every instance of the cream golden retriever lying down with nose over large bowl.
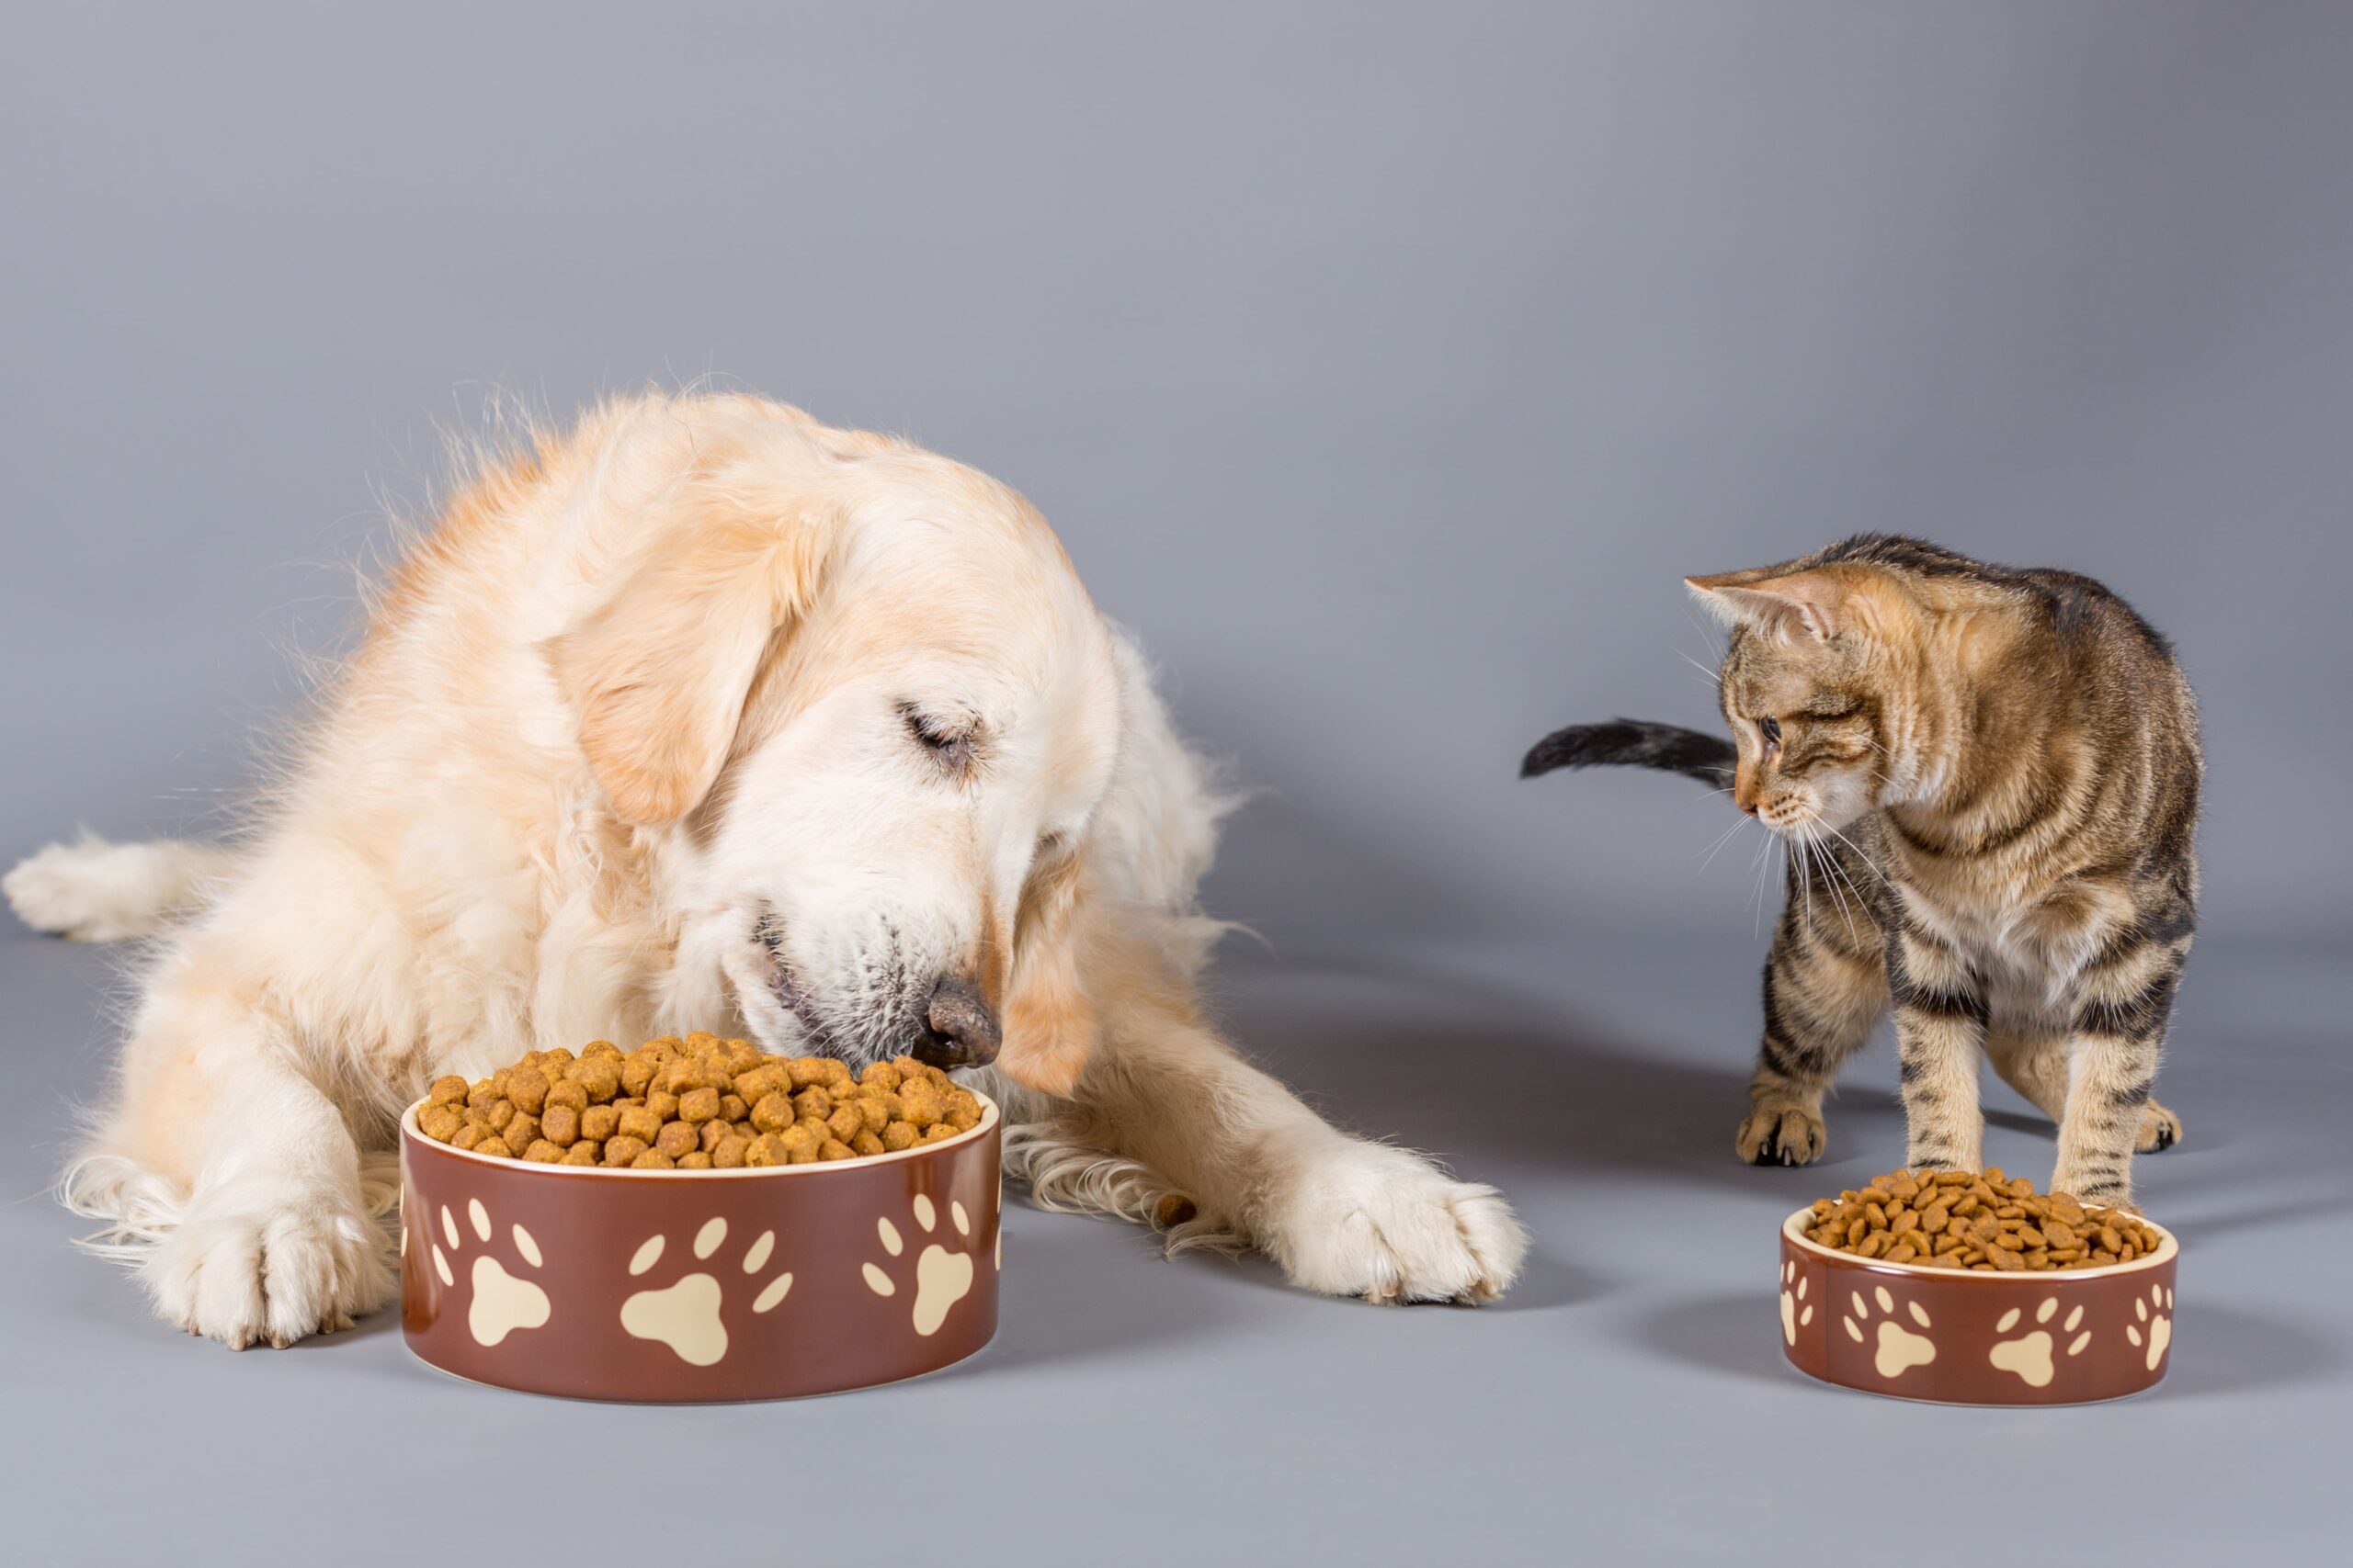
<path id="1" fill-rule="evenodd" d="M 984 1072 L 1045 1206 L 1494 1298 L 1492 1187 L 1202 1023 L 1219 804 L 1012 489 L 758 397 L 607 404 L 475 463 L 233 846 L 7 877 L 38 929 L 158 938 L 66 1201 L 167 1321 L 292 1345 L 393 1293 L 428 1079 L 704 1027 Z"/>

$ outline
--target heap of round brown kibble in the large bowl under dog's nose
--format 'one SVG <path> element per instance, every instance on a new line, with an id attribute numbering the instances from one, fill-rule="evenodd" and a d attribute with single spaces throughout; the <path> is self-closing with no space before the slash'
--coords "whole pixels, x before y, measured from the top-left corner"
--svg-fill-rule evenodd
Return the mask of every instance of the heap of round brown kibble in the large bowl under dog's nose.
<path id="1" fill-rule="evenodd" d="M 473 1084 L 433 1079 L 416 1110 L 419 1131 L 454 1150 L 633 1171 L 809 1166 L 979 1124 L 979 1098 L 911 1056 L 852 1072 L 828 1056 L 765 1056 L 701 1032 L 635 1051 L 609 1039 L 576 1056 L 532 1051 Z"/>

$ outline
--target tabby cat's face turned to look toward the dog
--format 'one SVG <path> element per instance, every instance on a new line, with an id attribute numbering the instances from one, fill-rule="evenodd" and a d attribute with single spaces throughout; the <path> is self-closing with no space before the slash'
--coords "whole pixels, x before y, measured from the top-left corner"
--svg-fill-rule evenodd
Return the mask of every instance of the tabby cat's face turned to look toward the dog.
<path id="1" fill-rule="evenodd" d="M 1718 675 L 1739 745 L 1732 799 L 1774 832 L 1821 837 L 1882 804 L 1882 719 L 1899 693 L 1885 607 L 1809 571 L 1687 578 L 1732 628 Z"/>

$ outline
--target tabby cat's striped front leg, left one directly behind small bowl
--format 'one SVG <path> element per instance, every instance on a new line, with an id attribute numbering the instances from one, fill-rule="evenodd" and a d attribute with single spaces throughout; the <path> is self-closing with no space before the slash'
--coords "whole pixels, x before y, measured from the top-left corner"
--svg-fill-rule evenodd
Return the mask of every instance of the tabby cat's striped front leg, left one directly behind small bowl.
<path id="1" fill-rule="evenodd" d="M 1897 1009 L 1904 1077 L 1904 1164 L 1913 1171 L 1984 1166 L 1986 1119 L 1977 1063 L 1986 1048 L 1986 990 L 1958 950 L 1918 924 L 1887 936 L 1887 990 Z"/>

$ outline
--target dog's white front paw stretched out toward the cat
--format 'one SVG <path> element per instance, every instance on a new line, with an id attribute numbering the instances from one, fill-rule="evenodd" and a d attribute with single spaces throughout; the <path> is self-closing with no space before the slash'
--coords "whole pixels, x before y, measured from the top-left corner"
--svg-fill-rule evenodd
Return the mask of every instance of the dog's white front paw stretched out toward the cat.
<path id="1" fill-rule="evenodd" d="M 1489 1302 L 1527 1258 L 1527 1232 L 1494 1187 L 1353 1140 L 1292 1171 L 1261 1244 L 1292 1284 L 1369 1302 Z"/>

